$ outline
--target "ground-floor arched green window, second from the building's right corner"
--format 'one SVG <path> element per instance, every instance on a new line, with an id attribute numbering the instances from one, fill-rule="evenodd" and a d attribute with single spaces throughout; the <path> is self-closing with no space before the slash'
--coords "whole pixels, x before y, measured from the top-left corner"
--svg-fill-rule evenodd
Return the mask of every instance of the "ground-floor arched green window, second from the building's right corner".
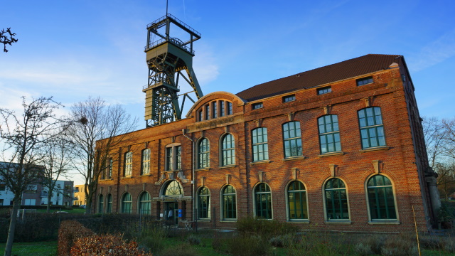
<path id="1" fill-rule="evenodd" d="M 331 178 L 327 181 L 324 192 L 326 194 L 326 219 L 349 219 L 348 194 L 344 182 L 339 178 Z"/>

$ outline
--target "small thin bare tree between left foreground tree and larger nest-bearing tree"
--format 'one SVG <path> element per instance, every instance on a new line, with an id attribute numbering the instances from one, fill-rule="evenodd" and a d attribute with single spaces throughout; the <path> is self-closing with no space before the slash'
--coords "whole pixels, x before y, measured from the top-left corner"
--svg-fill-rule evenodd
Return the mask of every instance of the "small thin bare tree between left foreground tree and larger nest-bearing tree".
<path id="1" fill-rule="evenodd" d="M 66 134 L 66 124 L 58 130 L 58 134 L 50 139 L 49 143 L 41 146 L 39 154 L 41 155 L 41 165 L 45 166 L 43 172 L 43 187 L 48 191 L 48 203 L 46 211 L 50 212 L 50 203 L 52 193 L 55 190 L 55 183 L 61 176 L 66 177 L 71 166 L 71 147 L 73 146 L 68 140 Z"/>

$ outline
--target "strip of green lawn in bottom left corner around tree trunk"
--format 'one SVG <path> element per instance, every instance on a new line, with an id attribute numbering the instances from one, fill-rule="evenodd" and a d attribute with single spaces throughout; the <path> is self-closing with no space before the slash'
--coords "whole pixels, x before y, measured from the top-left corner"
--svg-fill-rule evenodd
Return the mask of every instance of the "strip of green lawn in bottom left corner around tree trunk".
<path id="1" fill-rule="evenodd" d="M 5 253 L 4 243 L 0 244 L 0 255 Z M 12 255 L 20 256 L 55 256 L 57 241 L 52 242 L 15 242 Z"/>

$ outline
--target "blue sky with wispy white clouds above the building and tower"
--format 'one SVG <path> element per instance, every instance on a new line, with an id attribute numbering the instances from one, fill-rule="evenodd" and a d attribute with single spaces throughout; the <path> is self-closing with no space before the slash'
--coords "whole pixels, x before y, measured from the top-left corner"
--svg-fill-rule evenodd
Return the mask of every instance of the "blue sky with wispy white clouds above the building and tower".
<path id="1" fill-rule="evenodd" d="M 67 108 L 89 95 L 120 103 L 144 127 L 146 25 L 165 0 L 1 1 L 0 28 L 18 43 L 0 53 L 0 107 L 50 96 Z M 422 116 L 454 117 L 455 1 L 169 0 L 202 34 L 193 59 L 204 94 L 368 53 L 404 55 Z M 182 88 L 184 92 L 186 88 Z M 65 112 L 65 110 L 61 110 Z M 184 113 L 186 114 L 186 113 Z"/>

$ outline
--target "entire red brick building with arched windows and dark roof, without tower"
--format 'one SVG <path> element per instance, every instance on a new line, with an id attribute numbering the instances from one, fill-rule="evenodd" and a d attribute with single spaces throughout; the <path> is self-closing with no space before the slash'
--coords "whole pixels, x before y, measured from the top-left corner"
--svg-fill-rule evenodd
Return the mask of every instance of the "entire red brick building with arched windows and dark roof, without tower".
<path id="1" fill-rule="evenodd" d="M 414 85 L 401 55 L 365 55 L 233 95 L 141 129 L 112 150 L 97 211 L 233 227 L 427 232 L 439 207 Z M 193 204 L 194 203 L 194 204 Z"/>

